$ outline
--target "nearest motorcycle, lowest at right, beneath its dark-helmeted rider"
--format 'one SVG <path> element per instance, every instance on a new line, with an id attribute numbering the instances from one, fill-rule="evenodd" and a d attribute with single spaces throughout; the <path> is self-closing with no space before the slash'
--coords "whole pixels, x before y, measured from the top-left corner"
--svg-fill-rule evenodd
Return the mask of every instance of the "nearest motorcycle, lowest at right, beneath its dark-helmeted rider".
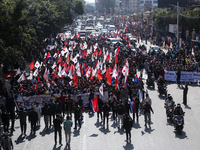
<path id="1" fill-rule="evenodd" d="M 184 125 L 183 115 L 176 115 L 174 117 L 174 127 L 178 132 L 178 134 L 181 134 L 181 131 L 183 130 L 183 125 Z"/>

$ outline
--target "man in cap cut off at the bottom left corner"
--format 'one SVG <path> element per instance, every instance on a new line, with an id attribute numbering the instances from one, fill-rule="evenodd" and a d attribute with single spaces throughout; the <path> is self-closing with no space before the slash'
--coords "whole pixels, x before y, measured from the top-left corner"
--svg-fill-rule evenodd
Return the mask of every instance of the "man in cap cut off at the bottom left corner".
<path id="1" fill-rule="evenodd" d="M 3 149 L 3 150 L 13 149 L 12 139 L 8 137 L 8 132 L 4 133 L 4 137 L 2 138 L 0 149 Z"/>

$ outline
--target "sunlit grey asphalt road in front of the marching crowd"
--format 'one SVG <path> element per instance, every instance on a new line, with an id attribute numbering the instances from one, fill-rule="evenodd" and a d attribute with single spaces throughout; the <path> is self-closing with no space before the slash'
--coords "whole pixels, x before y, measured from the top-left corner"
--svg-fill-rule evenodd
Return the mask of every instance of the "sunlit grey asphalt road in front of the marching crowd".
<path id="1" fill-rule="evenodd" d="M 146 88 L 145 88 L 146 89 Z M 157 89 L 157 86 L 156 86 Z M 173 124 L 167 120 L 164 109 L 164 97 L 159 97 L 157 90 L 148 89 L 152 99 L 154 114 L 151 126 L 144 126 L 144 116 L 140 114 L 139 122 L 134 124 L 131 134 L 131 142 L 126 143 L 125 132 L 118 130 L 117 124 L 109 116 L 109 126 L 103 129 L 102 123 L 97 121 L 97 114 L 84 113 L 82 128 L 72 129 L 72 150 L 199 150 L 200 149 L 200 101 L 199 85 L 189 85 L 188 106 L 183 106 L 185 112 L 185 126 L 182 134 L 175 132 Z M 176 103 L 182 103 L 183 90 L 175 83 L 168 84 L 168 93 L 172 95 Z M 132 115 L 131 115 L 132 116 Z M 72 118 L 74 119 L 74 118 Z M 100 119 L 101 121 L 101 119 Z M 74 127 L 74 126 L 73 126 Z M 44 121 L 41 118 L 41 127 L 36 136 L 30 135 L 30 124 L 27 127 L 27 137 L 20 136 L 19 120 L 16 120 L 15 130 L 12 135 L 14 149 L 16 150 L 63 150 L 65 146 L 64 130 L 62 130 L 63 146 L 54 145 L 53 128 L 44 130 Z"/>

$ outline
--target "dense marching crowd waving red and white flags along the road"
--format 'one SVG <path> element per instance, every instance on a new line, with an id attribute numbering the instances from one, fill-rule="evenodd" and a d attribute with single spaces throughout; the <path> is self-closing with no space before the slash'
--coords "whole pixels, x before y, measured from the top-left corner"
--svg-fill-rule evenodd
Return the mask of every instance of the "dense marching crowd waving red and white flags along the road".
<path id="1" fill-rule="evenodd" d="M 81 120 L 84 117 L 81 94 L 89 93 L 88 111 L 91 113 L 93 108 L 90 104 L 95 98 L 94 92 L 99 92 L 97 117 L 99 119 L 100 115 L 103 127 L 105 128 L 106 119 L 108 125 L 108 117 L 112 111 L 113 120 L 117 120 L 118 128 L 126 130 L 126 141 L 131 140 L 130 130 L 133 122 L 138 122 L 140 110 L 141 113 L 144 112 L 145 126 L 150 125 L 152 101 L 148 91 L 144 89 L 143 72 L 152 72 L 157 80 L 160 76 L 164 78 L 164 70 L 198 71 L 199 51 L 196 50 L 193 54 L 191 48 L 188 49 L 187 43 L 183 43 L 180 48 L 169 44 L 172 49 L 167 53 L 143 52 L 141 48 L 145 49 L 145 45 L 138 36 L 144 35 L 142 31 L 129 23 L 125 28 L 125 33 L 120 32 L 118 28 L 109 35 L 101 34 L 97 38 L 81 39 L 76 33 L 60 34 L 58 37 L 50 37 L 49 41 L 43 43 L 42 49 L 34 55 L 33 67 L 30 66 L 33 78 L 27 79 L 24 73 L 19 73 L 11 79 L 10 91 L 6 87 L 1 88 L 1 119 L 6 135 L 9 132 L 10 120 L 11 131 L 15 131 L 15 101 L 22 96 L 42 94 L 51 95 L 49 103 L 41 106 L 37 101 L 29 112 L 26 106 L 22 106 L 17 112 L 21 134 L 24 136 L 26 136 L 27 115 L 32 134 L 35 134 L 43 116 L 45 129 L 48 130 L 52 124 L 54 125 L 55 144 L 59 133 L 59 143 L 62 145 L 61 124 L 64 122 L 66 144 L 70 146 L 73 124 L 70 117 L 73 113 L 74 129 L 77 130 L 77 126 L 81 128 Z M 127 32 L 137 35 L 138 42 L 130 41 L 126 36 Z M 121 40 L 111 44 L 106 41 L 108 37 L 118 37 Z M 132 51 L 130 45 L 134 45 L 136 50 Z M 138 71 L 139 76 L 137 76 Z M 100 86 L 103 86 L 104 92 L 109 93 L 108 99 L 101 99 Z M 77 95 L 78 101 L 74 102 L 72 95 Z M 67 117 L 64 121 L 66 112 Z M 130 117 L 131 113 L 133 117 Z"/>

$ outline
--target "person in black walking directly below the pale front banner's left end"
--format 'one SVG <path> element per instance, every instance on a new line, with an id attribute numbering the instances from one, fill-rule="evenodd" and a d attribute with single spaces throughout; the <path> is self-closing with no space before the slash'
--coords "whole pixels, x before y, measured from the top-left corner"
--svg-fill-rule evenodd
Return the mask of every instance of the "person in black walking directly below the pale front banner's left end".
<path id="1" fill-rule="evenodd" d="M 25 110 L 24 110 L 25 108 Z M 19 111 L 19 120 L 20 120 L 20 127 L 21 127 L 21 135 L 24 134 L 26 136 L 26 116 L 27 116 L 27 109 L 26 107 L 21 107 Z"/>

